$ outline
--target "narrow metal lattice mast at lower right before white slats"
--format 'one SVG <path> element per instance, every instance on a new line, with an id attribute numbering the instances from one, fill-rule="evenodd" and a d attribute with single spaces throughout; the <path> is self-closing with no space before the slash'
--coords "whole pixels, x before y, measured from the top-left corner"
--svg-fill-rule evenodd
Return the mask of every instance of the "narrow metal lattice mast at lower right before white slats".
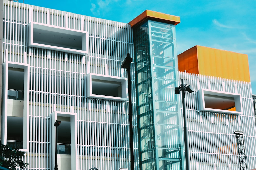
<path id="1" fill-rule="evenodd" d="M 236 134 L 236 139 L 237 139 L 237 150 L 238 150 L 240 170 L 247 170 L 243 132 L 235 131 L 234 134 Z"/>

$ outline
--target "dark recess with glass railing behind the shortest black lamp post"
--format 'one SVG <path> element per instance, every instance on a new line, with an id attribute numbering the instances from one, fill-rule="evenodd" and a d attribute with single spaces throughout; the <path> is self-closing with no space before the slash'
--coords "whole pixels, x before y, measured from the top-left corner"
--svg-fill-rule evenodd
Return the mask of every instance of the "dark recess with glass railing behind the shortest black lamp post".
<path id="1" fill-rule="evenodd" d="M 68 117 L 65 117 L 66 119 Z M 60 118 L 57 118 L 58 120 Z M 58 154 L 71 155 L 71 129 L 70 121 L 61 121 L 58 126 Z"/>

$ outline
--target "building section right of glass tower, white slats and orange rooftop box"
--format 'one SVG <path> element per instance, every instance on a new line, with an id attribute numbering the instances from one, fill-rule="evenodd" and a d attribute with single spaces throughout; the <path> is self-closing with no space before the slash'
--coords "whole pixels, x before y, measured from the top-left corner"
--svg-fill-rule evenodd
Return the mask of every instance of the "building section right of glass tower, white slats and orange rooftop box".
<path id="1" fill-rule="evenodd" d="M 243 132 L 243 167 L 254 169 L 255 112 L 247 55 L 194 46 L 178 55 L 178 63 L 180 79 L 196 91 L 186 93 L 191 169 L 240 169 L 235 131 Z"/>

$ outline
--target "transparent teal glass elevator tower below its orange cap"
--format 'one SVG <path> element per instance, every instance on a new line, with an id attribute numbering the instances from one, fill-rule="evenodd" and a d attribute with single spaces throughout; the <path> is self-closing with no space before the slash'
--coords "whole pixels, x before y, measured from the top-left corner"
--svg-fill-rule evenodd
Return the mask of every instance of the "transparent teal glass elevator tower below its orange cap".
<path id="1" fill-rule="evenodd" d="M 175 26 L 147 20 L 133 36 L 140 169 L 184 169 Z"/>

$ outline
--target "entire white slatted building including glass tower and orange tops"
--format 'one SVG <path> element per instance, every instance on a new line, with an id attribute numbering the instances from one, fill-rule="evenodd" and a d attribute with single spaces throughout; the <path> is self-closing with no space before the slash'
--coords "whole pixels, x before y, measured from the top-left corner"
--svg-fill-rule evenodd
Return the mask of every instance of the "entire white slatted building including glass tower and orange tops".
<path id="1" fill-rule="evenodd" d="M 203 62 L 193 62 L 197 72 L 190 70 L 187 58 L 202 61 L 209 54 L 198 55 L 194 47 L 188 50 L 192 55 L 177 57 L 179 17 L 146 10 L 126 24 L 12 1 L 3 4 L 1 143 L 25 151 L 27 169 L 54 169 L 56 120 L 62 121 L 60 169 L 131 169 L 129 80 L 121 68 L 127 53 L 134 59 L 135 169 L 185 169 L 181 96 L 174 93 L 181 78 L 195 89 L 186 94 L 191 167 L 238 169 L 234 131 L 243 131 L 247 167 L 255 168 L 248 67 L 238 78 L 201 72 Z M 247 59 L 239 54 L 233 60 L 240 57 Z M 212 108 L 208 101 L 216 98 L 228 103 Z"/>

